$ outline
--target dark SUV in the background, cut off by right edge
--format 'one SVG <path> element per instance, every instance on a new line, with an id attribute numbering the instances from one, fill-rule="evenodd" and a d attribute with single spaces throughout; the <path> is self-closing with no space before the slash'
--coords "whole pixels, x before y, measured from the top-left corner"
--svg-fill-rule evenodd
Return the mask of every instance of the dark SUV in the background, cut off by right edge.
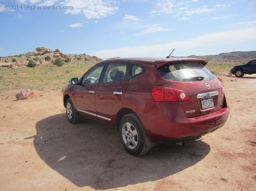
<path id="1" fill-rule="evenodd" d="M 243 77 L 244 74 L 256 74 L 256 60 L 243 65 L 231 66 L 230 72 L 237 77 Z"/>

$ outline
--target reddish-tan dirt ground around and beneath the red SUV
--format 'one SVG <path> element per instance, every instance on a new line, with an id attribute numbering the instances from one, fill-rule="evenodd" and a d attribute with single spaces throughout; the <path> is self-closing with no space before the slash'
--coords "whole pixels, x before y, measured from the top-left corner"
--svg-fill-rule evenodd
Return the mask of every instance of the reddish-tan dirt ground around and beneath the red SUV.
<path id="1" fill-rule="evenodd" d="M 157 145 L 141 157 L 108 125 L 70 124 L 62 93 L 0 93 L 1 190 L 256 190 L 256 74 L 217 76 L 227 123 L 184 146 Z"/>

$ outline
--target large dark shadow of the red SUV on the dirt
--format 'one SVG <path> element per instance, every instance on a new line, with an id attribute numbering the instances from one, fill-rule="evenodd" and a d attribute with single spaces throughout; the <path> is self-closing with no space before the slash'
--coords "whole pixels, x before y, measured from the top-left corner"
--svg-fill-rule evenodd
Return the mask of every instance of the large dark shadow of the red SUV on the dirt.
<path id="1" fill-rule="evenodd" d="M 124 187 L 165 178 L 189 168 L 210 152 L 199 140 L 184 146 L 157 145 L 134 157 L 123 148 L 116 128 L 84 118 L 70 124 L 66 114 L 36 123 L 34 146 L 38 155 L 79 187 Z"/>

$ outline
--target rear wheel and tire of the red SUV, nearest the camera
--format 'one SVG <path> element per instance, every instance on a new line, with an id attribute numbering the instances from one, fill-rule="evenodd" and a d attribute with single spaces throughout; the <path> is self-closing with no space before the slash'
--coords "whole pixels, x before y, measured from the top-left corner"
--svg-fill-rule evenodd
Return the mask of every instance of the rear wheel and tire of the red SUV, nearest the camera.
<path id="1" fill-rule="evenodd" d="M 136 114 L 127 114 L 122 118 L 119 134 L 125 150 L 131 155 L 144 155 L 152 146 L 152 142 L 146 136 L 143 125 Z"/>

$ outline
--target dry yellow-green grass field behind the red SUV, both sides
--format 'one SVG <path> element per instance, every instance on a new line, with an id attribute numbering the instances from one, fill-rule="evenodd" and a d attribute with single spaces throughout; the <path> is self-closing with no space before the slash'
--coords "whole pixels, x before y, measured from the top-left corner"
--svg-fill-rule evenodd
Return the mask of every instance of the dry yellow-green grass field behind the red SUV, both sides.
<path id="1" fill-rule="evenodd" d="M 96 63 L 98 62 L 75 60 L 62 67 L 47 65 L 40 68 L 0 69 L 0 91 L 45 88 L 59 90 L 69 83 L 72 77 L 81 77 Z M 232 65 L 238 64 L 240 63 L 208 63 L 206 67 L 213 73 L 228 73 Z"/>

